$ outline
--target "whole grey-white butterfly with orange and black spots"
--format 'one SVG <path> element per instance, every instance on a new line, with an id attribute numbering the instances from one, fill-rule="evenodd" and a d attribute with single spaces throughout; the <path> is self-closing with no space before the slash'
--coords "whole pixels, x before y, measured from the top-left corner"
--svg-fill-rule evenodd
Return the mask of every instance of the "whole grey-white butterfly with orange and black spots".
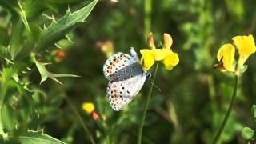
<path id="1" fill-rule="evenodd" d="M 150 75 L 142 70 L 133 48 L 130 48 L 130 54 L 119 52 L 108 58 L 103 66 L 103 73 L 110 80 L 107 95 L 110 106 L 116 111 L 122 110 L 134 99 Z"/>

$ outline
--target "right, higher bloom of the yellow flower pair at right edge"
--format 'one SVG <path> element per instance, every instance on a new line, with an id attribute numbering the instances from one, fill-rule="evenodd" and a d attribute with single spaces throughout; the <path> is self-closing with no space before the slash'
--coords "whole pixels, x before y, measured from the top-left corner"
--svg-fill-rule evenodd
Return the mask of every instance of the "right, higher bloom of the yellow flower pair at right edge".
<path id="1" fill-rule="evenodd" d="M 250 54 L 256 51 L 254 37 L 250 34 L 249 36 L 236 36 L 232 39 L 239 52 L 238 66 L 242 66 Z"/>

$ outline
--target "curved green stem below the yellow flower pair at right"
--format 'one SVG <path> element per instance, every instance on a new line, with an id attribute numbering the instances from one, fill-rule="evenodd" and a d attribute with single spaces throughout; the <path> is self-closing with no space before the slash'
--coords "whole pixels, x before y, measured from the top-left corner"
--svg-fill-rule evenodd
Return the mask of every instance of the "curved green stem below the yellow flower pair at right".
<path id="1" fill-rule="evenodd" d="M 218 129 L 217 134 L 214 137 L 214 140 L 212 142 L 213 144 L 218 142 L 218 138 L 221 136 L 222 131 L 224 130 L 224 128 L 226 126 L 226 122 L 227 122 L 228 118 L 230 117 L 230 113 L 231 113 L 232 107 L 234 105 L 234 98 L 237 95 L 237 90 L 238 90 L 238 75 L 235 75 L 234 76 L 234 90 L 233 90 L 232 98 L 231 98 L 231 101 L 230 101 L 230 106 L 229 106 L 229 109 L 226 112 L 225 118 L 223 119 L 221 126 Z"/>

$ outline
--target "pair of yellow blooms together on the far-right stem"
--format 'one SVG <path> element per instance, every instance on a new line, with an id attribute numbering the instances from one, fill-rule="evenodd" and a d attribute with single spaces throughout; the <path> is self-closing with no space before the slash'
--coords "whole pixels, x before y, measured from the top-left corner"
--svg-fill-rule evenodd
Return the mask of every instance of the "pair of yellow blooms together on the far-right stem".
<path id="1" fill-rule="evenodd" d="M 251 34 L 248 36 L 236 36 L 232 39 L 239 53 L 238 64 L 236 65 L 234 58 L 234 46 L 227 43 L 218 50 L 217 59 L 219 64 L 215 65 L 215 67 L 219 70 L 236 72 L 236 70 L 242 69 L 250 54 L 254 54 L 256 51 L 254 37 Z"/>

